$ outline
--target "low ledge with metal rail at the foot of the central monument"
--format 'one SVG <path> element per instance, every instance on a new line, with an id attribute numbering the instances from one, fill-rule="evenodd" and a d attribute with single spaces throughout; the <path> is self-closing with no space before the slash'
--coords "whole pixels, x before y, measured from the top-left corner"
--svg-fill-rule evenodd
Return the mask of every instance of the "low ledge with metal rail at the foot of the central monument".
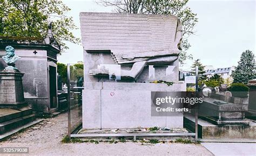
<path id="1" fill-rule="evenodd" d="M 151 127 L 152 128 L 152 127 Z M 145 140 L 157 139 L 159 141 L 170 141 L 179 138 L 190 138 L 194 133 L 188 133 L 185 128 L 170 128 L 152 130 L 150 128 L 126 128 L 126 129 L 81 129 L 72 137 L 79 137 L 93 140 Z"/>

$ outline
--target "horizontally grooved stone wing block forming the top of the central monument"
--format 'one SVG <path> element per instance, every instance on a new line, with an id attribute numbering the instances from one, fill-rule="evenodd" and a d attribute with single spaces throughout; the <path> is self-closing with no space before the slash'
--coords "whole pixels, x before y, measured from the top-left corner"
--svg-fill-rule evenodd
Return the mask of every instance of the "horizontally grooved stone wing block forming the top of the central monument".
<path id="1" fill-rule="evenodd" d="M 181 38 L 179 19 L 171 15 L 81 12 L 80 25 L 88 51 L 170 49 L 177 48 Z"/>

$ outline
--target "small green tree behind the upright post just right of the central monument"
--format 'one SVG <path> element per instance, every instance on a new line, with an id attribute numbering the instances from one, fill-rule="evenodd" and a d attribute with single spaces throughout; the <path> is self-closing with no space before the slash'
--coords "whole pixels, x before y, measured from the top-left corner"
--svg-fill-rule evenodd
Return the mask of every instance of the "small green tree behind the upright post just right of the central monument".
<path id="1" fill-rule="evenodd" d="M 191 73 L 196 75 L 196 66 L 198 66 L 198 84 L 202 84 L 206 80 L 205 66 L 200 63 L 200 59 L 194 60 L 194 63 L 191 66 Z"/>

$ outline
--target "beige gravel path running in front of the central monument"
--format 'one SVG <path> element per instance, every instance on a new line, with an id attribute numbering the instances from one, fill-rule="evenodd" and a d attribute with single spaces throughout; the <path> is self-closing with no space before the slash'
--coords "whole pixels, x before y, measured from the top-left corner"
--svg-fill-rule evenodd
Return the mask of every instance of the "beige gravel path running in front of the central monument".
<path id="1" fill-rule="evenodd" d="M 200 144 L 142 145 L 132 142 L 63 144 L 61 140 L 66 135 L 67 129 L 67 113 L 62 113 L 1 141 L 0 147 L 29 147 L 29 154 L 17 155 L 213 155 Z"/>

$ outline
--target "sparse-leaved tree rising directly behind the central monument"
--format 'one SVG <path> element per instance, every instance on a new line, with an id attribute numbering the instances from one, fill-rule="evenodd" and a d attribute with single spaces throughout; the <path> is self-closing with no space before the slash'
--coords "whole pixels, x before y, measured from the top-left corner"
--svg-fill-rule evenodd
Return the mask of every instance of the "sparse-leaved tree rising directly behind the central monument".
<path id="1" fill-rule="evenodd" d="M 190 48 L 188 37 L 195 33 L 194 26 L 198 22 L 197 14 L 186 6 L 188 0 L 98 0 L 98 4 L 112 6 L 115 12 L 120 13 L 152 13 L 174 15 L 180 18 L 183 24 L 183 50 L 179 56 L 180 64 L 186 59 L 192 59 L 187 54 Z"/>

